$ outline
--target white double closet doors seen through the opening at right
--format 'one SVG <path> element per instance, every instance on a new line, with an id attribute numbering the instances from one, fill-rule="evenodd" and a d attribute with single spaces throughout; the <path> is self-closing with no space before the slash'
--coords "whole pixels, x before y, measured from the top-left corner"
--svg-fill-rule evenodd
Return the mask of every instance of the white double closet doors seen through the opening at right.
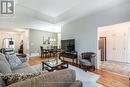
<path id="1" fill-rule="evenodd" d="M 106 59 L 128 62 L 128 29 L 107 31 L 105 37 Z"/>

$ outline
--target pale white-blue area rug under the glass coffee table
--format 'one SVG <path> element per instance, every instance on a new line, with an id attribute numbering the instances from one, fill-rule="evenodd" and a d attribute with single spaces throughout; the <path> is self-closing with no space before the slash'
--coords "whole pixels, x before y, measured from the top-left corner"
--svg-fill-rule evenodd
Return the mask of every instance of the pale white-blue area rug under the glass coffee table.
<path id="1" fill-rule="evenodd" d="M 32 68 L 35 68 L 37 71 L 42 71 L 42 65 L 34 65 Z M 99 79 L 99 75 L 91 73 L 91 72 L 85 72 L 80 68 L 77 68 L 75 66 L 69 65 L 70 69 L 75 70 L 76 72 L 76 79 L 83 82 L 83 87 L 103 87 L 102 85 L 96 83 L 96 81 Z"/>

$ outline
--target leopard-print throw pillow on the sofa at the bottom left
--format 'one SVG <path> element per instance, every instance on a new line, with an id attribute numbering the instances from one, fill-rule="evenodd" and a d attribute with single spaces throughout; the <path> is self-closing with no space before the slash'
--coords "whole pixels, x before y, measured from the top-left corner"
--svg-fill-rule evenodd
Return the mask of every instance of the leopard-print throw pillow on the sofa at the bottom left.
<path id="1" fill-rule="evenodd" d="M 4 75 L 0 76 L 3 81 L 6 83 L 6 86 L 11 85 L 16 82 L 24 81 L 26 79 L 30 79 L 39 75 L 44 74 L 45 72 L 38 72 L 38 73 L 32 73 L 32 74 L 12 74 L 12 75 Z"/>

